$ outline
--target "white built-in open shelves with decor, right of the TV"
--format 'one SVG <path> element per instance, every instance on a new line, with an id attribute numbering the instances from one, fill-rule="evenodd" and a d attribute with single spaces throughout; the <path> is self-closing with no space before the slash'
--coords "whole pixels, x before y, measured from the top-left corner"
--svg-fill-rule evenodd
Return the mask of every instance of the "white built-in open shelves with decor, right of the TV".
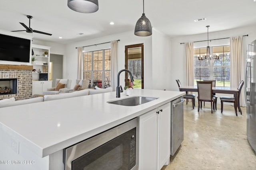
<path id="1" fill-rule="evenodd" d="M 32 44 L 31 61 L 33 66 L 32 78 L 35 81 L 49 80 L 50 47 Z"/>

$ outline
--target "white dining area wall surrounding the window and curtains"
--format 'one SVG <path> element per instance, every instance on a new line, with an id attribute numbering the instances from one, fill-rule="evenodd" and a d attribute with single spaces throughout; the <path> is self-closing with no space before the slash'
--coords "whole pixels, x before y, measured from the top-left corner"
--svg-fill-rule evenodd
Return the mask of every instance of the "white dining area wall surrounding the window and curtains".
<path id="1" fill-rule="evenodd" d="M 210 28 L 209 28 L 210 29 Z M 219 39 L 219 38 L 226 38 L 226 37 L 236 37 L 240 35 L 249 35 L 248 37 L 243 37 L 243 51 L 244 51 L 244 58 L 246 59 L 246 48 L 247 45 L 256 39 L 256 25 L 251 25 L 248 27 L 240 27 L 237 29 L 230 29 L 218 32 L 210 32 L 209 30 L 209 39 Z M 171 82 L 171 90 L 177 91 L 178 85 L 176 83 L 176 79 L 179 79 L 182 85 L 187 85 L 185 79 L 185 46 L 184 42 L 191 42 L 191 41 L 202 41 L 207 40 L 207 29 L 206 33 L 198 34 L 198 35 L 189 35 L 183 37 L 173 38 L 171 41 L 171 74 L 170 74 L 170 82 Z M 209 46 L 213 45 L 224 45 L 229 43 L 229 39 L 224 40 L 214 40 L 209 41 Z M 194 43 L 194 47 L 206 47 L 207 41 Z"/>

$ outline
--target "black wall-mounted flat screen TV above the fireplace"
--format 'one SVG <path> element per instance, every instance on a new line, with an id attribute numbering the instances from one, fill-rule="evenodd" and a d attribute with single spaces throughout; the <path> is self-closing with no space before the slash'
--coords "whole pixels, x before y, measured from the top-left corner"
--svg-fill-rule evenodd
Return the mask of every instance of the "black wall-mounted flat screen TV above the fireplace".
<path id="1" fill-rule="evenodd" d="M 30 62 L 30 39 L 0 34 L 0 60 Z"/>

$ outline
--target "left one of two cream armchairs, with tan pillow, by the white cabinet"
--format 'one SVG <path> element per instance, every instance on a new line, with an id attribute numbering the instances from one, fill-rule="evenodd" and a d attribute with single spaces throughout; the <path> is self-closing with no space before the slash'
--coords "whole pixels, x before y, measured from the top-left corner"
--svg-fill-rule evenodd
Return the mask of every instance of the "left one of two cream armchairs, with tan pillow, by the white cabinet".
<path id="1" fill-rule="evenodd" d="M 59 94 L 63 93 L 64 90 L 70 89 L 72 80 L 71 79 L 58 79 L 56 78 L 56 86 L 48 88 L 43 94 Z"/>

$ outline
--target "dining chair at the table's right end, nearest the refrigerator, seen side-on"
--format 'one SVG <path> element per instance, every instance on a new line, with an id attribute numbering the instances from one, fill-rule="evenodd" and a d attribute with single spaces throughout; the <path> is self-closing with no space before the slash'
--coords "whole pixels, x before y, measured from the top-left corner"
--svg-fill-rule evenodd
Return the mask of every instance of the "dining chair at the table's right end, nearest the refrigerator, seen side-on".
<path id="1" fill-rule="evenodd" d="M 240 81 L 240 83 L 238 85 L 238 88 L 237 88 L 237 90 L 238 90 L 237 106 L 236 106 L 235 96 L 234 97 L 228 97 L 228 96 L 221 96 L 220 97 L 221 113 L 223 111 L 223 102 L 230 102 L 230 103 L 234 103 L 235 110 L 236 110 L 236 107 L 238 107 L 238 110 L 242 115 L 242 110 L 240 108 L 240 93 L 241 93 L 243 85 L 244 85 L 244 80 Z M 237 112 L 236 112 L 236 116 L 237 116 Z"/>

